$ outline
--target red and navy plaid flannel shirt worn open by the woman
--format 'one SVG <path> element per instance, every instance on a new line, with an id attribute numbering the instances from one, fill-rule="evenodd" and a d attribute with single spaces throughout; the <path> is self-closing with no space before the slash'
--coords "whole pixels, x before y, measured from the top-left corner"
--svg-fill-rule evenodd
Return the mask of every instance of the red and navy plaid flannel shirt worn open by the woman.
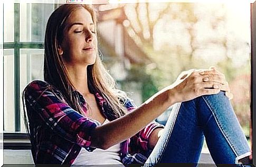
<path id="1" fill-rule="evenodd" d="M 31 134 L 31 151 L 35 164 L 72 164 L 81 148 L 91 152 L 91 134 L 100 126 L 100 122 L 82 116 L 73 110 L 61 93 L 49 83 L 41 80 L 32 81 L 25 88 L 24 99 L 29 119 Z M 84 112 L 86 101 L 79 95 L 80 104 Z M 95 93 L 100 110 L 105 110 L 105 99 Z M 127 100 L 125 107 L 128 112 L 136 108 L 131 100 Z M 152 150 L 148 148 L 148 139 L 156 128 L 164 126 L 153 121 L 133 137 L 121 143 L 120 157 L 123 164 L 144 163 Z M 109 139 L 111 140 L 111 139 Z"/>

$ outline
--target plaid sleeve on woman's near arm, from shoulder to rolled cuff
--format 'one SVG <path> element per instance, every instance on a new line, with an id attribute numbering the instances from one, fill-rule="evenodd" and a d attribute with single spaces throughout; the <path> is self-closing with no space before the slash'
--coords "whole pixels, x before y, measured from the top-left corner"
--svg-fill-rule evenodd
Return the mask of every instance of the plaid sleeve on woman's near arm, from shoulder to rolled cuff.
<path id="1" fill-rule="evenodd" d="M 60 95 L 57 89 L 48 87 L 51 87 L 49 83 L 36 80 L 25 88 L 24 99 L 29 121 L 33 119 L 30 118 L 33 115 L 31 113 L 35 112 L 45 122 L 45 126 L 60 137 L 92 151 L 91 134 L 100 123 L 73 110 L 63 98 L 57 96 Z"/>

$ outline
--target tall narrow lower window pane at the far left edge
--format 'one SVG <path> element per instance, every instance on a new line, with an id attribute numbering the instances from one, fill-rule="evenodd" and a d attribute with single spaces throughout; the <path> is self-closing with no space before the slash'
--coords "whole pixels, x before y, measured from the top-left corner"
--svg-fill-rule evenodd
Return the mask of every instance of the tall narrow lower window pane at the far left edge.
<path id="1" fill-rule="evenodd" d="M 14 50 L 4 49 L 4 131 L 14 131 Z"/>

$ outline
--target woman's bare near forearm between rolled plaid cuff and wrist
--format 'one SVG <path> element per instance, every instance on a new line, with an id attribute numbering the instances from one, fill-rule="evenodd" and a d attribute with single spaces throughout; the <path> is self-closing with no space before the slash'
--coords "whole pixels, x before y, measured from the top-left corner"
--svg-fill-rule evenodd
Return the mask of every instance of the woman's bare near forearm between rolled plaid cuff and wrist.
<path id="1" fill-rule="evenodd" d="M 124 117 L 98 126 L 91 137 L 91 147 L 108 149 L 132 137 L 175 103 L 171 89 L 162 90 Z"/>

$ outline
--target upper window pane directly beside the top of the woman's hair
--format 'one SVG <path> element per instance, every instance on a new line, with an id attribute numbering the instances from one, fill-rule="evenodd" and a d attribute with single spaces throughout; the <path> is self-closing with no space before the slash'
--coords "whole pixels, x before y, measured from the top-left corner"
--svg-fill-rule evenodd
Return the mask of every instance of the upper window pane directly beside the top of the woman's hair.
<path id="1" fill-rule="evenodd" d="M 44 41 L 46 23 L 53 10 L 54 4 L 20 4 L 21 41 Z"/>

